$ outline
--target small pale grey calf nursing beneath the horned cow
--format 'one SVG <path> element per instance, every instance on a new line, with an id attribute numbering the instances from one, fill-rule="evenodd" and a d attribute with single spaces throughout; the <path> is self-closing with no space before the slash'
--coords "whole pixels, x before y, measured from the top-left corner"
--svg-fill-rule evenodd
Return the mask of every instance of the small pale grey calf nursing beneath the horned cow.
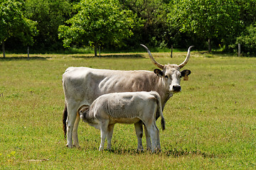
<path id="1" fill-rule="evenodd" d="M 136 128 L 140 120 L 146 126 L 151 138 L 151 150 L 160 150 L 159 129 L 156 127 L 156 112 L 161 116 L 161 128 L 165 129 L 165 120 L 161 108 L 161 98 L 156 91 L 124 92 L 105 94 L 92 102 L 91 106 L 83 105 L 78 109 L 80 118 L 89 125 L 100 129 L 100 149 L 104 149 L 107 137 L 107 149 L 111 149 L 114 124 L 125 123 L 135 125 L 138 138 L 138 150 L 142 150 L 139 140 L 141 131 Z"/>

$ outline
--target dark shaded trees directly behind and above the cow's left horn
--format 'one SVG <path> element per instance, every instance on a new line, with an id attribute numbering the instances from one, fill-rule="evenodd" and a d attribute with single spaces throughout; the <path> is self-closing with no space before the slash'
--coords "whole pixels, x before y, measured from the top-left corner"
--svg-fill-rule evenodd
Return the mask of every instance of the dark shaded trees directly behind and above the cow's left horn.
<path id="1" fill-rule="evenodd" d="M 119 3 L 122 4 L 122 8 L 137 14 L 139 25 L 134 27 L 134 38 L 128 40 L 130 43 L 141 42 L 161 47 L 167 45 L 168 0 L 119 0 Z"/>

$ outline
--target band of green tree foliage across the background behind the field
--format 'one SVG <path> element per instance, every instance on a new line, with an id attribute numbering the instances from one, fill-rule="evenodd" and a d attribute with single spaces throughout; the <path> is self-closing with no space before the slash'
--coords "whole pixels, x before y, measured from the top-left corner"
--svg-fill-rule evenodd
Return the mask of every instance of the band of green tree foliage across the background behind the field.
<path id="1" fill-rule="evenodd" d="M 19 52 L 100 45 L 112 51 L 160 48 L 236 50 L 256 22 L 255 0 L 0 0 L 0 42 Z M 36 35 L 36 36 L 35 36 Z M 208 43 L 209 42 L 209 43 Z M 4 45 L 4 44 L 3 44 Z M 210 46 L 212 45 L 212 46 Z M 21 46 L 21 47 L 20 47 Z M 247 45 L 246 45 L 247 46 Z M 252 55 L 255 48 L 244 47 Z M 249 53 L 248 53 L 249 52 Z"/>

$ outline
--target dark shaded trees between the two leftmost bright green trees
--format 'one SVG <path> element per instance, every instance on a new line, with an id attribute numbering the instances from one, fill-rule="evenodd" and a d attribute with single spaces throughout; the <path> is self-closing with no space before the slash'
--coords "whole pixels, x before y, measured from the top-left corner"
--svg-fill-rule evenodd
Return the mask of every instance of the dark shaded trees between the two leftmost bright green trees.
<path id="1" fill-rule="evenodd" d="M 38 36 L 35 48 L 38 50 L 58 50 L 63 47 L 58 39 L 58 27 L 72 12 L 69 0 L 26 0 L 24 4 L 26 17 L 38 23 Z"/>

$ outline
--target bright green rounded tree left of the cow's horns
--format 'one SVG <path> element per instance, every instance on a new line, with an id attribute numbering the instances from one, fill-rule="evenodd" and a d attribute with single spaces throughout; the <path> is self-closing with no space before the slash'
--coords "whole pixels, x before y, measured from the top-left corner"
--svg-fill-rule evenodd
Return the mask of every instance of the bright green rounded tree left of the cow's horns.
<path id="1" fill-rule="evenodd" d="M 99 45 L 122 45 L 122 40 L 132 35 L 132 12 L 121 10 L 114 0 L 82 0 L 75 9 L 78 13 L 58 28 L 64 47 L 71 43 L 92 45 L 97 56 Z"/>

